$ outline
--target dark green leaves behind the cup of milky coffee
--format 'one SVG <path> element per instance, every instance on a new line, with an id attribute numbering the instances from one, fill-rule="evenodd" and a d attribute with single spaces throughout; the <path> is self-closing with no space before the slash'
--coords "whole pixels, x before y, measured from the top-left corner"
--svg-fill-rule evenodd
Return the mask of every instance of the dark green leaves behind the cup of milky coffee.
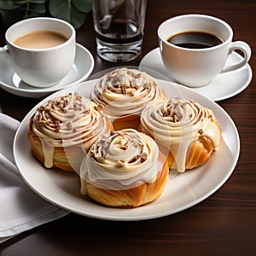
<path id="1" fill-rule="evenodd" d="M 93 0 L 0 0 L 1 24 L 39 16 L 52 16 L 67 20 L 76 29 L 83 25 Z"/>

